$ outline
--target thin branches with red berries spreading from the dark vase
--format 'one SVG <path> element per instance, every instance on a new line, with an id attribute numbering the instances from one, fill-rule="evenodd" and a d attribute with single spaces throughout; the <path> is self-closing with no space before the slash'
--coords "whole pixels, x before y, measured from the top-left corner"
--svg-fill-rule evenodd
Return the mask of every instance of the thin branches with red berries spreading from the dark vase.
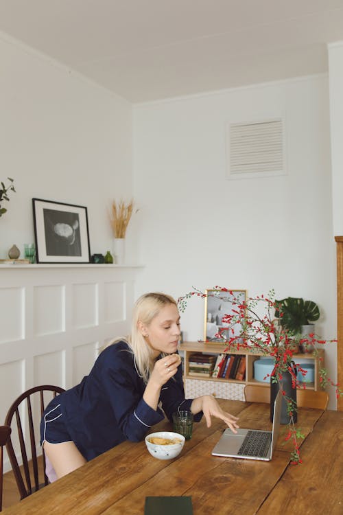
<path id="1" fill-rule="evenodd" d="M 222 288 L 220 286 L 215 286 L 214 290 L 210 291 L 212 293 L 203 292 L 193 287 L 193 291 L 179 297 L 178 306 L 180 312 L 185 311 L 191 297 L 204 299 L 211 296 L 217 297 L 217 299 L 225 302 L 228 301 L 228 298 L 225 296 L 226 293 L 230 293 L 230 305 L 232 305 L 233 308 L 230 308 L 230 312 L 224 313 L 222 317 L 222 323 L 227 327 L 219 328 L 217 333 L 218 339 L 222 338 L 223 343 L 226 345 L 226 347 L 223 348 L 223 353 L 230 354 L 230 352 L 233 351 L 244 350 L 246 352 L 258 352 L 263 356 L 270 356 L 274 359 L 274 370 L 272 374 L 268 374 L 266 377 L 270 377 L 271 393 L 272 385 L 276 385 L 276 383 L 278 389 L 281 389 L 289 415 L 288 433 L 285 439 L 292 439 L 294 442 L 294 450 L 291 455 L 292 463 L 301 463 L 298 439 L 303 436 L 295 426 L 294 414 L 297 409 L 296 402 L 294 402 L 292 393 L 286 391 L 286 387 L 287 390 L 288 387 L 290 387 L 289 390 L 296 390 L 297 387 L 305 388 L 305 385 L 303 383 L 300 385 L 298 377 L 292 367 L 292 359 L 297 352 L 296 345 L 294 345 L 294 328 L 292 330 L 288 329 L 285 323 L 277 323 L 278 321 L 275 318 L 276 310 L 279 314 L 278 318 L 284 318 L 283 305 L 281 305 L 283 301 L 275 300 L 274 290 L 270 290 L 268 296 L 259 295 L 257 297 L 248 297 L 247 299 L 244 299 L 239 294 L 236 295 L 233 293 L 233 290 L 228 290 L 228 288 Z M 283 300 L 286 301 L 287 299 Z M 285 302 L 285 304 L 287 306 L 289 306 L 289 304 L 291 306 L 294 304 L 301 306 L 302 303 L 293 303 L 291 301 L 290 303 Z M 313 304 L 314 303 L 311 301 L 307 301 L 306 304 L 311 313 L 310 315 L 307 314 L 307 320 L 311 321 L 319 318 L 318 306 L 314 304 L 314 306 L 316 306 L 316 309 L 314 309 Z M 303 311 L 305 311 L 305 306 L 303 306 Z M 307 337 L 303 336 L 302 340 L 304 343 L 307 342 L 308 345 L 312 346 L 314 346 L 315 343 L 325 345 L 326 343 L 335 341 L 318 339 L 313 333 L 309 334 Z M 300 371 L 300 374 L 303 376 L 307 374 L 301 367 L 298 367 L 298 371 Z M 285 383 L 285 374 L 289 374 L 291 379 L 290 383 Z M 340 389 L 339 385 L 329 378 L 327 369 L 321 367 L 319 376 L 320 386 L 323 389 L 331 385 L 335 388 L 337 398 L 343 395 L 343 391 Z"/>

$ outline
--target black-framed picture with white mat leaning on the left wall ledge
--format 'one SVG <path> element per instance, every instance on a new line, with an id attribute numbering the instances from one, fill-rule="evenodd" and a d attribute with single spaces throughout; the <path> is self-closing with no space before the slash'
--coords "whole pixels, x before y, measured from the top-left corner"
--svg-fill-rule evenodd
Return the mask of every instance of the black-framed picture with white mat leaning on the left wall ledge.
<path id="1" fill-rule="evenodd" d="M 89 263 L 87 208 L 32 198 L 37 263 Z"/>

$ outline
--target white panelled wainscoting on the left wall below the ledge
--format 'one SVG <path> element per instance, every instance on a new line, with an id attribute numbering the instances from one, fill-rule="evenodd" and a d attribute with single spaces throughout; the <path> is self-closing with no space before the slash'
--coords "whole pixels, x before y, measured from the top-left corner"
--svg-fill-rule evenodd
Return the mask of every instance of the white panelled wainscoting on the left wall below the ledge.
<path id="1" fill-rule="evenodd" d="M 99 349 L 130 332 L 139 268 L 0 266 L 0 420 L 28 388 L 80 382 Z"/>

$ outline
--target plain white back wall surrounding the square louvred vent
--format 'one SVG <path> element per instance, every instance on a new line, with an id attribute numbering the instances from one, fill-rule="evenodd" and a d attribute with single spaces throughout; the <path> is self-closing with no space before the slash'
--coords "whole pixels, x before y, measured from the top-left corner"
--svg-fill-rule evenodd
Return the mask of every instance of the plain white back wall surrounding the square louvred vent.
<path id="1" fill-rule="evenodd" d="M 226 180 L 226 124 L 279 116 L 287 175 Z M 134 196 L 147 265 L 137 294 L 274 288 L 276 298 L 316 301 L 318 332 L 335 337 L 327 76 L 137 104 Z M 187 339 L 202 339 L 203 313 L 202 301 L 191 301 L 182 315 Z M 326 355 L 335 378 L 335 344 Z"/>

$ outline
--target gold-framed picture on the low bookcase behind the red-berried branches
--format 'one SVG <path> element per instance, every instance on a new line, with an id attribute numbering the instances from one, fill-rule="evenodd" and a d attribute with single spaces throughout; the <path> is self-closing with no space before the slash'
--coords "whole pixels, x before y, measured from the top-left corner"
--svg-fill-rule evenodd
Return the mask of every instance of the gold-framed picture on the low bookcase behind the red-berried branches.
<path id="1" fill-rule="evenodd" d="M 226 343 L 230 336 L 240 334 L 240 324 L 238 327 L 228 326 L 222 321 L 224 314 L 233 314 L 237 299 L 239 302 L 245 301 L 247 298 L 246 290 L 206 290 L 205 297 L 205 320 L 204 320 L 204 341 L 208 343 Z M 236 300 L 236 304 L 237 304 Z M 226 329 L 227 328 L 227 329 Z M 220 332 L 220 335 L 218 333 Z"/>

